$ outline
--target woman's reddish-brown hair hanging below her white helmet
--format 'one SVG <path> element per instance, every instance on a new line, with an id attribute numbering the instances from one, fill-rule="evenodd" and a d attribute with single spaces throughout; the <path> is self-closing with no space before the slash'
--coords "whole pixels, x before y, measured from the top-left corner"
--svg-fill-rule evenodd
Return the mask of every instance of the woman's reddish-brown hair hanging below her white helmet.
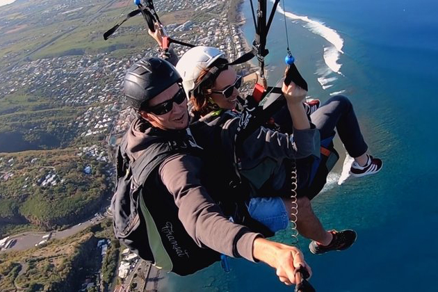
<path id="1" fill-rule="evenodd" d="M 225 65 L 227 63 L 228 60 L 226 60 L 225 58 L 218 58 L 218 60 L 214 61 L 213 64 L 211 64 L 211 67 L 218 67 L 222 65 L 223 67 L 220 70 L 220 72 L 222 72 L 224 70 L 227 70 L 228 66 Z M 195 83 L 199 83 L 200 81 L 202 81 L 204 76 L 209 72 L 210 68 L 202 70 L 200 76 L 197 77 Z M 200 84 L 200 88 L 198 90 L 192 91 L 192 94 L 190 95 L 190 102 L 193 105 L 192 113 L 195 116 L 206 115 L 207 113 L 218 109 L 216 104 L 213 104 L 213 102 L 210 100 L 211 88 L 213 88 L 213 84 L 216 81 L 217 76 L 215 78 L 206 79 Z"/>

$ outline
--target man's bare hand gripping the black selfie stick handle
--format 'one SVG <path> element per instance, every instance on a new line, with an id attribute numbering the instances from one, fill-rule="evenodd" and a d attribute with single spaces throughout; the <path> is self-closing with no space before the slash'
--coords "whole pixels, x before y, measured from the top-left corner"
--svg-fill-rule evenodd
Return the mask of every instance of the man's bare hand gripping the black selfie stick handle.
<path id="1" fill-rule="evenodd" d="M 279 280 L 286 285 L 300 282 L 301 277 L 297 273 L 300 266 L 305 267 L 311 275 L 311 269 L 305 262 L 302 252 L 293 246 L 256 238 L 252 245 L 252 254 L 255 259 L 275 268 Z"/>

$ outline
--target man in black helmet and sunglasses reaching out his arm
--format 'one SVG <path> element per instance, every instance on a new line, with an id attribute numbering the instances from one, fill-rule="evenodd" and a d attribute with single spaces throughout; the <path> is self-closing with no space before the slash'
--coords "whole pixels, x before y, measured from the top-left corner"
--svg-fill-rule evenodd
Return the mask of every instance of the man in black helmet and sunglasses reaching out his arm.
<path id="1" fill-rule="evenodd" d="M 268 241 L 251 226 L 232 222 L 204 188 L 202 149 L 187 129 L 180 81 L 175 67 L 159 58 L 140 60 L 125 76 L 125 94 L 140 116 L 117 150 L 115 235 L 143 259 L 179 275 L 226 254 L 268 263 L 285 284 L 299 282 L 297 269 L 310 268 L 298 248 Z M 129 177 L 131 190 L 120 192 Z"/>

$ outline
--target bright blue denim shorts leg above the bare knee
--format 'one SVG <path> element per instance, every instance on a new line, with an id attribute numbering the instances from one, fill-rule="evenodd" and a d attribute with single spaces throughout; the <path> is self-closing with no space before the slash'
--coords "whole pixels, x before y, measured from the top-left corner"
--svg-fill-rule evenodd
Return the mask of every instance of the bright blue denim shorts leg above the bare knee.
<path id="1" fill-rule="evenodd" d="M 286 229 L 289 216 L 280 197 L 252 197 L 248 203 L 250 216 L 272 232 Z"/>

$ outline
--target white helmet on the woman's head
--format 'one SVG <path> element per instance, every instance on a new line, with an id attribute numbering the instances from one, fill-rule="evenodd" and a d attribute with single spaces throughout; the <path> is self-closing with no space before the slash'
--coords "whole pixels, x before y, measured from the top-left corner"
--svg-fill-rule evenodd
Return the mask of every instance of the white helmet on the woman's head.
<path id="1" fill-rule="evenodd" d="M 177 63 L 177 71 L 183 80 L 182 85 L 187 98 L 190 97 L 190 91 L 200 85 L 199 83 L 195 84 L 196 79 L 218 58 L 225 58 L 223 51 L 204 46 L 193 47 L 181 56 Z"/>

